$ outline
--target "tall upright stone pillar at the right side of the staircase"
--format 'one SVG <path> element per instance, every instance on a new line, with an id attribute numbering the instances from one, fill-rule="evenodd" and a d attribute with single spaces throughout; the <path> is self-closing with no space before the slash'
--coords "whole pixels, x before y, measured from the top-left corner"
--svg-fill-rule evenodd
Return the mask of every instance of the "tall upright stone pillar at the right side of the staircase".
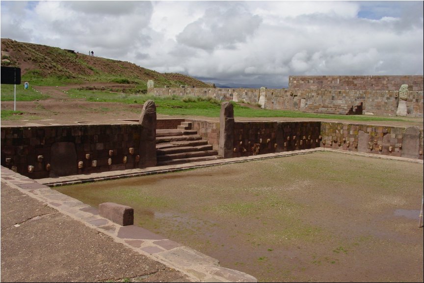
<path id="1" fill-rule="evenodd" d="M 222 158 L 233 157 L 234 142 L 234 107 L 230 102 L 221 104 L 219 115 L 219 148 Z"/>

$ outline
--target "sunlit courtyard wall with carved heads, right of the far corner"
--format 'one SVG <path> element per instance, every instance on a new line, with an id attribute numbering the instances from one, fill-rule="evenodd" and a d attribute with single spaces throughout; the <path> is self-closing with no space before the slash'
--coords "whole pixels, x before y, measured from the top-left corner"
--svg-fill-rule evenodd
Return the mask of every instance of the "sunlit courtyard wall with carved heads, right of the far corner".
<path id="1" fill-rule="evenodd" d="M 326 148 L 423 159 L 423 129 L 321 122 Z"/>

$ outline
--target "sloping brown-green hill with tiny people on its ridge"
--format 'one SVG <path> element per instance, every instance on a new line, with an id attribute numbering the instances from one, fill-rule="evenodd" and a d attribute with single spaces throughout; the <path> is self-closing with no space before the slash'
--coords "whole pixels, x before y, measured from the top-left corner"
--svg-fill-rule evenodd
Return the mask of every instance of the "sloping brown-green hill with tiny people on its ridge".
<path id="1" fill-rule="evenodd" d="M 130 62 L 3 38 L 1 66 L 21 68 L 22 80 L 35 85 L 116 82 L 147 88 L 147 81 L 154 80 L 156 87 L 210 87 L 179 73 L 159 73 Z"/>

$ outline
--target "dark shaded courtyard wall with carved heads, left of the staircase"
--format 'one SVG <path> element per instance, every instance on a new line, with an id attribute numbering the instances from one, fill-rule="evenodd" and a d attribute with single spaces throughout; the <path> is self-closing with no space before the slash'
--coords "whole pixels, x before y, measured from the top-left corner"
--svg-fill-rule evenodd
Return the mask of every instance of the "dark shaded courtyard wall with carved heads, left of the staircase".
<path id="1" fill-rule="evenodd" d="M 1 165 L 33 179 L 144 167 L 142 130 L 139 124 L 1 127 Z"/>

